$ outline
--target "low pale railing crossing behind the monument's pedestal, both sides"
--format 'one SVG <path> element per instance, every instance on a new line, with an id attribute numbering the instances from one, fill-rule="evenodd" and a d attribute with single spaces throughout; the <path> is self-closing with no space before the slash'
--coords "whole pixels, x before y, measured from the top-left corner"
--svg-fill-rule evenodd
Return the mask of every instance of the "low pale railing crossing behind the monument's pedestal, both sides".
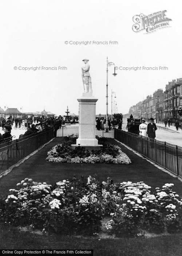
<path id="1" fill-rule="evenodd" d="M 78 134 L 79 127 L 78 126 L 61 126 L 60 129 L 57 131 L 58 137 L 64 137 L 71 134 Z M 111 131 L 106 132 L 106 130 L 97 130 L 95 129 L 95 135 L 102 136 L 105 138 L 114 138 L 114 129 Z"/>

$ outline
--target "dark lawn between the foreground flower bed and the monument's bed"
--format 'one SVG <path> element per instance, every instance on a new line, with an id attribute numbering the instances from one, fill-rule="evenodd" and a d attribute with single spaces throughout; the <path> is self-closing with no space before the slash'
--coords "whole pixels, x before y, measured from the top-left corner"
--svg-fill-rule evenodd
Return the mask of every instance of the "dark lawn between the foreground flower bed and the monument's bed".
<path id="1" fill-rule="evenodd" d="M 105 181 L 107 177 L 111 177 L 114 182 L 143 181 L 150 185 L 152 189 L 161 187 L 165 183 L 174 183 L 174 190 L 182 196 L 182 182 L 177 177 L 173 177 L 158 169 L 149 161 L 139 157 L 114 139 L 108 139 L 107 142 L 119 145 L 122 151 L 130 157 L 132 161 L 130 165 L 47 162 L 47 152 L 53 146 L 62 142 L 63 138 L 55 138 L 36 154 L 15 167 L 6 176 L 0 178 L 0 197 L 6 196 L 9 189 L 16 188 L 16 184 L 24 178 L 32 178 L 37 182 L 47 182 L 54 185 L 55 182 L 71 179 L 74 174 L 77 178 L 80 178 L 81 175 L 87 178 L 89 175 L 97 174 L 100 182 Z"/>

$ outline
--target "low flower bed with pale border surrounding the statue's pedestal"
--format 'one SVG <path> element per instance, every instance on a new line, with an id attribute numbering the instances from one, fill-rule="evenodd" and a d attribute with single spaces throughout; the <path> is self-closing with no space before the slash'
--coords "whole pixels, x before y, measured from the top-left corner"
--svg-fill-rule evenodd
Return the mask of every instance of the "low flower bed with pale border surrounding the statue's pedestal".
<path id="1" fill-rule="evenodd" d="M 114 163 L 129 164 L 130 158 L 119 146 L 104 144 L 100 150 L 86 150 L 84 147 L 71 148 L 71 143 L 57 144 L 48 151 L 49 162 L 56 163 Z"/>

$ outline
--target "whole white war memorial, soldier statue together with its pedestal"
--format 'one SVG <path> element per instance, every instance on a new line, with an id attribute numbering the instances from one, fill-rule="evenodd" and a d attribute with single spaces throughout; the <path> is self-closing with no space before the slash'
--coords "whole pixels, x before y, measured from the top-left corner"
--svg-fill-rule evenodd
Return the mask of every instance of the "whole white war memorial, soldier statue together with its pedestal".
<path id="1" fill-rule="evenodd" d="M 102 147 L 102 145 L 98 145 L 98 140 L 95 139 L 95 110 L 98 99 L 92 95 L 89 60 L 83 59 L 83 61 L 82 82 L 84 92 L 82 96 L 77 99 L 79 102 L 79 138 L 76 140 L 76 144 L 72 144 L 71 146 L 75 148 L 80 145 L 88 150 L 97 150 Z"/>

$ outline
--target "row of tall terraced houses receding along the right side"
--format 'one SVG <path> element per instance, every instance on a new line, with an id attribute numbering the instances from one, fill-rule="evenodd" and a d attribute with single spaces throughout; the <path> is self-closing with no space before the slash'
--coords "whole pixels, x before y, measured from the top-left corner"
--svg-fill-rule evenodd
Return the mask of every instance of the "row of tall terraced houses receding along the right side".
<path id="1" fill-rule="evenodd" d="M 180 120 L 182 117 L 178 114 L 178 108 L 182 106 L 182 78 L 173 80 L 166 84 L 165 91 L 158 89 L 153 93 L 153 97 L 148 95 L 146 99 L 131 106 L 129 114 L 135 118 L 144 117 L 149 120 L 150 117 L 158 121 L 165 119 Z"/>

